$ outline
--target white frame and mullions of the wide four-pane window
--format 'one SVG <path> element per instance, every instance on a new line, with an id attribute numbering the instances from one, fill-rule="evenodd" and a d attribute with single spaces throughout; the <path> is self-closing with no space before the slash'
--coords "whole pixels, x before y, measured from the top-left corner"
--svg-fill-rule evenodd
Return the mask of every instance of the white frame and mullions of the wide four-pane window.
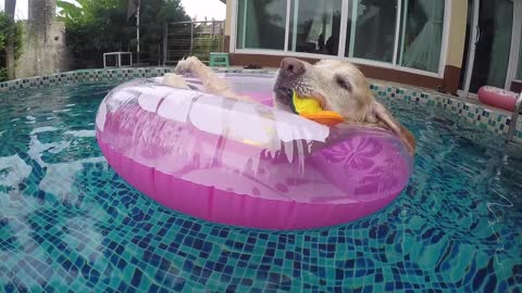
<path id="1" fill-rule="evenodd" d="M 446 61 L 447 61 L 447 55 L 448 55 L 448 42 L 449 42 L 449 27 L 450 27 L 450 21 L 451 21 L 451 3 L 453 0 L 444 0 L 445 1 L 445 7 L 444 7 L 444 27 L 443 27 L 443 41 L 442 41 L 442 49 L 440 49 L 440 60 L 439 60 L 439 66 L 438 66 L 438 72 L 437 73 L 432 73 L 432 72 L 426 72 L 426 71 L 421 71 L 421 69 L 415 69 L 415 68 L 410 68 L 406 66 L 401 66 L 398 64 L 398 50 L 400 49 L 400 42 L 399 42 L 399 35 L 401 34 L 400 29 L 400 24 L 402 23 L 403 15 L 401 13 L 401 8 L 405 2 L 408 0 L 398 0 L 397 3 L 397 25 L 396 25 L 396 31 L 395 31 L 395 48 L 394 48 L 394 56 L 391 63 L 388 62 L 381 62 L 381 61 L 373 61 L 373 60 L 366 60 L 366 59 L 358 59 L 358 58 L 346 58 L 345 52 L 348 50 L 346 48 L 346 29 L 347 29 L 347 24 L 348 24 L 348 12 L 349 12 L 349 5 L 352 5 L 356 0 L 343 0 L 341 2 L 341 16 L 340 16 L 340 36 L 339 36 L 339 47 L 338 47 L 338 54 L 337 55 L 326 55 L 326 54 L 315 54 L 315 53 L 304 53 L 304 52 L 293 52 L 291 50 L 288 50 L 288 43 L 289 43 L 289 31 L 290 31 L 290 8 L 291 8 L 291 2 L 293 0 L 286 0 L 286 27 L 285 27 L 285 43 L 284 43 L 284 49 L 283 50 L 273 50 L 273 49 L 237 49 L 237 18 L 238 18 L 238 9 L 239 0 L 228 0 L 232 3 L 232 15 L 231 15 L 231 41 L 229 41 L 229 50 L 231 53 L 239 53 L 239 54 L 263 54 L 263 55 L 276 55 L 276 56 L 296 56 L 296 58 L 310 58 L 310 59 L 328 59 L 328 60 L 346 60 L 356 64 L 361 64 L 361 65 L 369 65 L 369 66 L 376 66 L 376 67 L 382 67 L 382 68 L 389 68 L 389 69 L 396 69 L 400 72 L 406 72 L 406 73 L 412 73 L 417 75 L 423 75 L 427 77 L 436 77 L 436 78 L 443 78 L 444 77 L 444 71 L 446 67 Z"/>

